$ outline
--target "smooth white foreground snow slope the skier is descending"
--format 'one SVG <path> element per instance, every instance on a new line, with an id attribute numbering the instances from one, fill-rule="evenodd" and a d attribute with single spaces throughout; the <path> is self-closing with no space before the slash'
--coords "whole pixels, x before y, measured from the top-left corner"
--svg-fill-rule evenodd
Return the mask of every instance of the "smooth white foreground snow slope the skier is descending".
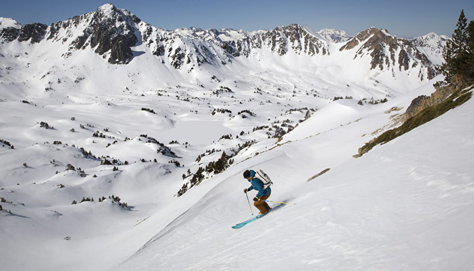
<path id="1" fill-rule="evenodd" d="M 359 159 L 344 153 L 360 145 L 354 139 L 371 131 L 372 121 L 262 153 L 208 181 L 211 191 L 193 191 L 201 192 L 199 202 L 119 270 L 470 270 L 473 105 Z M 231 229 L 249 216 L 240 173 L 256 167 L 275 176 L 271 199 L 297 204 Z M 331 169 L 306 182 L 325 167 Z"/>

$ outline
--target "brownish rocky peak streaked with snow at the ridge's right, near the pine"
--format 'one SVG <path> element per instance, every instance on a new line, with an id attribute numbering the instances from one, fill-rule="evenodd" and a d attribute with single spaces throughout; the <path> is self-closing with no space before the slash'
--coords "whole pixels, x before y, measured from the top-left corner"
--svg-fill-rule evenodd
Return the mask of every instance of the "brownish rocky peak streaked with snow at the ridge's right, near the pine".
<path id="1" fill-rule="evenodd" d="M 370 28 L 362 31 L 343 45 L 339 51 L 351 50 L 360 44 L 362 46 L 357 50 L 354 59 L 370 52 L 371 69 L 384 70 L 396 67 L 399 71 L 407 71 L 410 67 L 414 68 L 421 64 L 427 68 L 428 80 L 437 75 L 435 65 L 415 45 L 406 39 L 397 39 L 386 30 Z M 421 73 L 419 76 L 421 80 L 425 79 Z"/>

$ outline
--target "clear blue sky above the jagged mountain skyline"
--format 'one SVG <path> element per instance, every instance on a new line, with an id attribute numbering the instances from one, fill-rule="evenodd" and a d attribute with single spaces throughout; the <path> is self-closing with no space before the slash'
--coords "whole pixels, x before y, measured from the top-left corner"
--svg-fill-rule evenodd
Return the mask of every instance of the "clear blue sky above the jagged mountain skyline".
<path id="1" fill-rule="evenodd" d="M 8 0 L 0 4 L 0 17 L 49 25 L 105 3 L 167 30 L 195 26 L 251 31 L 297 23 L 315 31 L 333 28 L 351 35 L 373 26 L 398 37 L 429 32 L 451 36 L 461 10 L 468 21 L 474 20 L 473 0 Z"/>

